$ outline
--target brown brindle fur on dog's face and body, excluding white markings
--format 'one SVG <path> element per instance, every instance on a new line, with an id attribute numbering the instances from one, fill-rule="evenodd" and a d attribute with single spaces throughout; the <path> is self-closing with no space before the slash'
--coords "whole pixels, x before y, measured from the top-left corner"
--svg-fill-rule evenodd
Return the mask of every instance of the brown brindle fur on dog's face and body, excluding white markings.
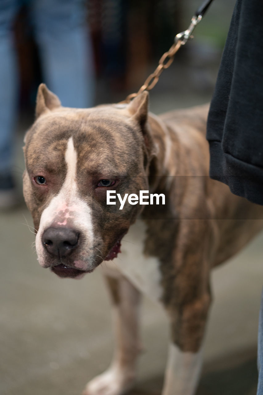
<path id="1" fill-rule="evenodd" d="M 98 266 L 136 218 L 147 225 L 145 255 L 160 262 L 162 303 L 171 320 L 171 337 L 180 350 L 197 352 L 207 320 L 210 269 L 236 254 L 263 227 L 263 208 L 234 196 L 209 178 L 205 138 L 208 105 L 147 115 L 148 94 L 130 105 L 68 109 L 44 85 L 39 87 L 37 119 L 25 138 L 24 197 L 36 229 L 41 213 L 66 177 L 66 141 L 73 136 L 78 153 L 79 193 L 92 207 Z M 170 151 L 170 154 L 169 154 Z M 48 175 L 45 194 L 32 184 Z M 165 205 L 105 205 L 94 180 L 119 180 L 111 187 L 122 196 L 165 194 Z M 75 254 L 75 252 L 73 252 Z M 118 278 L 109 280 L 115 304 Z"/>

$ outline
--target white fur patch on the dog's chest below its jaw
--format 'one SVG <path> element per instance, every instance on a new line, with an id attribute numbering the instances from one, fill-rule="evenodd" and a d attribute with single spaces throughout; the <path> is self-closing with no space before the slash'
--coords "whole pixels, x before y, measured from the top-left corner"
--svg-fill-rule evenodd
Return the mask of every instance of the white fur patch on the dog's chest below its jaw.
<path id="1" fill-rule="evenodd" d="M 157 258 L 144 255 L 145 237 L 146 226 L 141 220 L 137 220 L 122 239 L 122 252 L 112 264 L 136 288 L 147 294 L 150 299 L 158 301 L 162 296 L 160 262 Z"/>

